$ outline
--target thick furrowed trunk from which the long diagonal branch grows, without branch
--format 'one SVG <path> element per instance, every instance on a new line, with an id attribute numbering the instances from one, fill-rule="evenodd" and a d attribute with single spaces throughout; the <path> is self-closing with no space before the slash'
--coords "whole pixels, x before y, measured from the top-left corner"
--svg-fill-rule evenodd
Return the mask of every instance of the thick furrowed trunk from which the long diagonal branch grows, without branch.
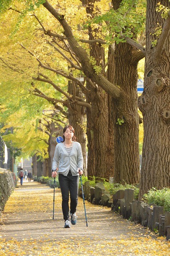
<path id="1" fill-rule="evenodd" d="M 137 61 L 133 60 L 132 46 L 115 46 L 115 83 L 121 88 L 115 109 L 115 182 L 136 184 L 140 178 L 139 116 L 137 107 Z M 118 118 L 124 121 L 119 124 Z M 117 123 L 118 122 L 118 123 Z"/>

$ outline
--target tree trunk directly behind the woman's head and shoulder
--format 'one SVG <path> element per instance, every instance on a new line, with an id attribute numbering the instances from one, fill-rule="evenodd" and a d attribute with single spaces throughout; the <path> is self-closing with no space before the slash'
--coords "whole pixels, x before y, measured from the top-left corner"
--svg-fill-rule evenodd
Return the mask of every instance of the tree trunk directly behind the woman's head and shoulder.
<path id="1" fill-rule="evenodd" d="M 77 85 L 75 84 L 76 88 Z M 69 81 L 68 92 L 73 94 L 73 85 L 72 82 Z M 83 98 L 83 93 L 78 92 L 79 98 Z M 77 104 L 73 104 L 70 102 L 70 108 L 68 108 L 69 112 L 69 124 L 73 126 L 75 130 L 75 136 L 77 141 L 81 144 L 81 150 L 83 154 L 83 174 L 87 176 L 87 151 L 86 151 L 86 137 L 85 137 L 85 107 L 79 106 Z"/>

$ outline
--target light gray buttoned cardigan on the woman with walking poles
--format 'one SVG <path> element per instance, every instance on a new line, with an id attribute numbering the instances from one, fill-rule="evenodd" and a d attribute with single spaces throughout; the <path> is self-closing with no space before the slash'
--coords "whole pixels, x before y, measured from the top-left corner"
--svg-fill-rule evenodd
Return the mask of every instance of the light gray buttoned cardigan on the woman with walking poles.
<path id="1" fill-rule="evenodd" d="M 58 166 L 59 164 L 59 166 Z M 69 169 L 73 176 L 79 175 L 78 168 L 83 169 L 83 155 L 79 142 L 73 141 L 73 147 L 70 155 L 65 150 L 63 142 L 60 142 L 55 147 L 52 169 L 57 169 L 58 173 L 67 176 Z"/>

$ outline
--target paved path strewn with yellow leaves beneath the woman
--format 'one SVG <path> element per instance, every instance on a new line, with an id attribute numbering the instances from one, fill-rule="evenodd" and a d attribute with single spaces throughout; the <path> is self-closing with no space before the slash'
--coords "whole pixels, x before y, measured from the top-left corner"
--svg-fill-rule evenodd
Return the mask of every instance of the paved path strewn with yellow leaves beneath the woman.
<path id="1" fill-rule="evenodd" d="M 19 184 L 18 184 L 19 185 Z M 61 193 L 38 182 L 24 182 L 6 203 L 0 226 L 1 256 L 168 256 L 164 237 L 124 220 L 110 208 L 94 206 L 79 198 L 77 224 L 63 228 Z"/>

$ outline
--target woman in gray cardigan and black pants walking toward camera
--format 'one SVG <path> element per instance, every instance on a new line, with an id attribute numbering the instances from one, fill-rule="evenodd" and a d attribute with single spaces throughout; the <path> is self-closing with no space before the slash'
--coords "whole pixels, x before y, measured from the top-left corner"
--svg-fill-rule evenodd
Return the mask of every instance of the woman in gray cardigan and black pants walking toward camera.
<path id="1" fill-rule="evenodd" d="M 63 129 L 63 142 L 57 144 L 55 148 L 52 164 L 53 178 L 57 175 L 57 167 L 59 186 L 62 194 L 63 218 L 65 220 L 64 228 L 70 228 L 69 214 L 71 216 L 71 224 L 75 225 L 77 222 L 75 212 L 78 202 L 79 175 L 83 174 L 81 145 L 79 142 L 76 142 L 74 128 L 70 125 L 65 126 Z"/>

